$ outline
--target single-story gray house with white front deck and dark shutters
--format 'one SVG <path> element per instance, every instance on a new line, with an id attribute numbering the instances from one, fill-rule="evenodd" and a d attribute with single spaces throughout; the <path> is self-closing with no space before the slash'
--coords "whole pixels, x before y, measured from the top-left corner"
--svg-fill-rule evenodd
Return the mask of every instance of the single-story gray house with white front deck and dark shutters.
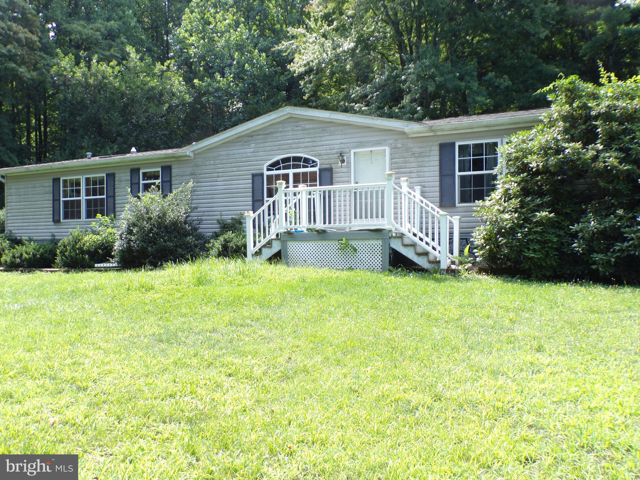
<path id="1" fill-rule="evenodd" d="M 6 229 L 60 239 L 97 214 L 119 216 L 129 189 L 168 193 L 193 179 L 205 234 L 250 212 L 250 254 L 384 269 L 391 248 L 442 268 L 479 225 L 474 202 L 493 188 L 497 148 L 545 111 L 409 122 L 287 106 L 183 148 L 3 168 Z M 345 261 L 310 260 L 331 255 Z"/>

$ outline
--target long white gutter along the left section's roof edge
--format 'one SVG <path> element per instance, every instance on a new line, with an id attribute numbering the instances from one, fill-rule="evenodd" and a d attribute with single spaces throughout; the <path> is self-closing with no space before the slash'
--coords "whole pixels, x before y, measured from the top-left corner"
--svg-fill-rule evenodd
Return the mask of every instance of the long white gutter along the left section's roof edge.
<path id="1" fill-rule="evenodd" d="M 99 166 L 130 164 L 134 162 L 146 163 L 159 159 L 188 159 L 192 157 L 193 154 L 191 152 L 162 152 L 158 154 L 134 154 L 104 158 L 94 157 L 92 159 L 67 160 L 54 163 L 40 163 L 37 165 L 23 165 L 9 168 L 0 168 L 0 177 L 1 175 L 4 175 L 6 177 L 7 173 L 26 175 L 28 173 L 53 172 L 57 170 L 76 170 L 77 168 L 94 168 Z"/>

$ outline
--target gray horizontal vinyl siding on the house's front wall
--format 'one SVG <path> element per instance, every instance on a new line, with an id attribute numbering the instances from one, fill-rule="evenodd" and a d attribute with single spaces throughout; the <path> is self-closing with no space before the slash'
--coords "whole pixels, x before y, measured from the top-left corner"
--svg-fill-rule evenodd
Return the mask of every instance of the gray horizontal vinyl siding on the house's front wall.
<path id="1" fill-rule="evenodd" d="M 443 141 L 485 140 L 502 138 L 514 130 L 473 132 L 472 134 L 427 137 L 407 136 L 404 131 L 375 127 L 287 118 L 257 131 L 244 134 L 195 154 L 193 159 L 163 159 L 149 163 L 131 163 L 101 168 L 75 168 L 64 172 L 8 175 L 7 229 L 13 234 L 35 239 L 58 239 L 67 236 L 77 225 L 88 227 L 91 220 L 52 223 L 51 182 L 54 177 L 116 173 L 116 216 L 127 202 L 130 168 L 159 168 L 171 164 L 173 189 L 193 179 L 196 184 L 195 204 L 202 217 L 205 234 L 217 228 L 217 220 L 252 209 L 251 175 L 263 172 L 264 164 L 284 154 L 307 154 L 319 160 L 319 166 L 333 167 L 333 183 L 351 183 L 349 152 L 352 148 L 390 147 L 390 166 L 401 177 L 410 179 L 410 186 L 422 187 L 422 195 L 438 205 L 439 158 L 438 145 Z M 339 166 L 338 155 L 347 159 Z M 461 232 L 469 234 L 479 225 L 472 216 L 473 206 L 448 207 L 450 214 L 461 216 Z"/>

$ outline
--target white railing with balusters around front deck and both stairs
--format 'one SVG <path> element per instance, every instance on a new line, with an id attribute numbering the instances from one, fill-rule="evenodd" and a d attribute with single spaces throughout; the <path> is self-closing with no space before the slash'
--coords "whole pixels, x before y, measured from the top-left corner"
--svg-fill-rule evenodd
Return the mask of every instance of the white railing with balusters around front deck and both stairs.
<path id="1" fill-rule="evenodd" d="M 277 195 L 259 211 L 245 214 L 248 259 L 285 230 L 307 228 L 397 230 L 433 253 L 441 269 L 447 268 L 447 258 L 460 255 L 460 217 L 449 216 L 420 196 L 420 187 L 411 190 L 406 178 L 398 187 L 393 172 L 387 172 L 381 183 L 285 188 L 280 180 L 277 187 Z"/>

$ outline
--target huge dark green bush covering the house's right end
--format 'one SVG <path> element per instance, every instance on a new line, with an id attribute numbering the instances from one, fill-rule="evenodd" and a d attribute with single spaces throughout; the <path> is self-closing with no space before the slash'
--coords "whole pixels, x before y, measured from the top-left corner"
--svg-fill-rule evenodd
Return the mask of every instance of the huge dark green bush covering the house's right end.
<path id="1" fill-rule="evenodd" d="M 552 88 L 543 124 L 502 150 L 479 256 L 541 278 L 640 282 L 640 77 Z"/>

